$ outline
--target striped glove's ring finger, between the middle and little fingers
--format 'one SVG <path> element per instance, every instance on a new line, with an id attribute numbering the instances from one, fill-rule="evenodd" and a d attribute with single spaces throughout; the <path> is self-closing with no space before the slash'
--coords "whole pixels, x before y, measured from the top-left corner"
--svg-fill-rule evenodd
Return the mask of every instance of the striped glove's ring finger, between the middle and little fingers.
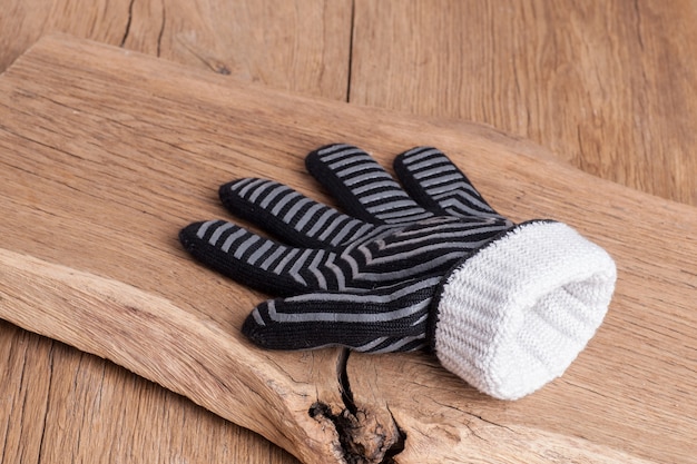
<path id="1" fill-rule="evenodd" d="M 330 145 L 307 155 L 305 165 L 350 215 L 365 221 L 403 224 L 433 216 L 360 148 Z"/>

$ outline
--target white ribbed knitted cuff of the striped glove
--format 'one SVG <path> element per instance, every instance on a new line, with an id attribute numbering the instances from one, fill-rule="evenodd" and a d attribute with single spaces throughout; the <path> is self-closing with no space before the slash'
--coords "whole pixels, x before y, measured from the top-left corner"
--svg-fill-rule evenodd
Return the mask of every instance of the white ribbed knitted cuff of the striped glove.
<path id="1" fill-rule="evenodd" d="M 560 376 L 583 349 L 616 278 L 612 258 L 571 227 L 520 225 L 444 277 L 435 354 L 478 389 L 520 398 Z"/>

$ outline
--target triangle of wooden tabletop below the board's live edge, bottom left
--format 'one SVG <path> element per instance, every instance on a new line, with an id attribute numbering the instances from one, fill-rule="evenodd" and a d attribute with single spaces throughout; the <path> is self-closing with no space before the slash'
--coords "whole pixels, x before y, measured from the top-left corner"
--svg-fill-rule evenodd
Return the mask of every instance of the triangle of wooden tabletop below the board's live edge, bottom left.
<path id="1" fill-rule="evenodd" d="M 3 463 L 294 461 L 110 362 L 0 324 Z"/>

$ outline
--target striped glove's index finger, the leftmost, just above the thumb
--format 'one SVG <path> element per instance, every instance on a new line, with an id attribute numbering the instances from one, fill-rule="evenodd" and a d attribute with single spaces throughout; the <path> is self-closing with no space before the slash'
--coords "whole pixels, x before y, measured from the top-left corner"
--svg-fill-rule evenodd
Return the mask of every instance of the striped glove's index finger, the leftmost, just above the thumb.
<path id="1" fill-rule="evenodd" d="M 288 247 L 224 220 L 190 224 L 179 240 L 204 265 L 268 294 L 298 295 L 342 285 L 341 276 L 324 272 L 332 253 Z"/>

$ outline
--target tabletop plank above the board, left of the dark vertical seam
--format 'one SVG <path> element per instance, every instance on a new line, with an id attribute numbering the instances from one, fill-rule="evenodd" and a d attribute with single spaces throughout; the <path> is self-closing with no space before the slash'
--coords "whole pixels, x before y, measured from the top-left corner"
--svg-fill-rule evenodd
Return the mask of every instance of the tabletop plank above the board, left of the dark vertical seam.
<path id="1" fill-rule="evenodd" d="M 345 100 L 351 9 L 351 0 L 6 0 L 0 71 L 40 37 L 67 32 L 239 80 Z"/>

